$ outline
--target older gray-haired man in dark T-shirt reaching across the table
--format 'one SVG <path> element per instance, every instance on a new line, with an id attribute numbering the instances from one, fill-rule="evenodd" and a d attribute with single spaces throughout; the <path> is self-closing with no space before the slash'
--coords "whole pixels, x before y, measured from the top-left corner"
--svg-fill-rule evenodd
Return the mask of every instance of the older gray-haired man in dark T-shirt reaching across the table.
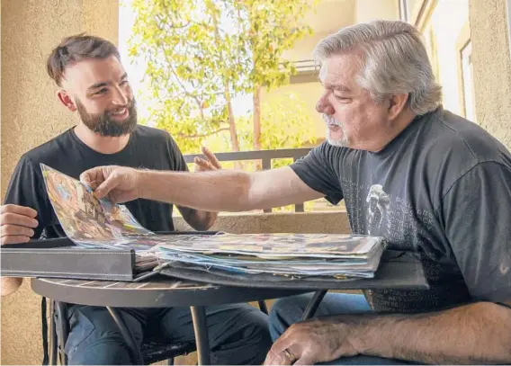
<path id="1" fill-rule="evenodd" d="M 420 33 L 406 22 L 357 24 L 321 40 L 317 109 L 327 142 L 291 166 L 258 173 L 82 174 L 114 201 L 137 197 L 202 210 L 345 200 L 356 234 L 417 254 L 429 290 L 278 300 L 267 364 L 511 362 L 511 154 L 444 111 Z"/>

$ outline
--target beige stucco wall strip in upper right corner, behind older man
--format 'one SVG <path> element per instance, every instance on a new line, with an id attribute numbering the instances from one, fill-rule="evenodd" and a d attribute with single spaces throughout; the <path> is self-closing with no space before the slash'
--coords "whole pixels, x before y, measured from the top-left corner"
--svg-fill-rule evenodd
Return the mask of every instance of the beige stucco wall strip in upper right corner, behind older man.
<path id="1" fill-rule="evenodd" d="M 477 120 L 511 148 L 511 59 L 505 0 L 471 0 L 472 62 Z"/>

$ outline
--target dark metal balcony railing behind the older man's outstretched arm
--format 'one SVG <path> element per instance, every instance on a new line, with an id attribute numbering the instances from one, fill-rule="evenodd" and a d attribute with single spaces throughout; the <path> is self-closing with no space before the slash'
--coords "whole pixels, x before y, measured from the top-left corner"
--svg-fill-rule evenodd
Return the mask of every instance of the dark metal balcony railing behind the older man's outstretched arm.
<path id="1" fill-rule="evenodd" d="M 280 148 L 275 150 L 259 150 L 259 151 L 238 151 L 231 153 L 218 153 L 215 154 L 219 161 L 247 161 L 257 160 L 261 161 L 264 170 L 272 168 L 273 159 L 292 158 L 292 161 L 300 159 L 302 156 L 309 154 L 309 147 L 301 148 Z M 186 163 L 193 163 L 195 156 L 202 156 L 201 154 L 185 155 L 184 161 Z M 203 157 L 203 156 L 202 156 Z M 303 203 L 294 205 L 295 212 L 303 212 Z M 272 212 L 272 210 L 264 210 L 264 212 Z"/>

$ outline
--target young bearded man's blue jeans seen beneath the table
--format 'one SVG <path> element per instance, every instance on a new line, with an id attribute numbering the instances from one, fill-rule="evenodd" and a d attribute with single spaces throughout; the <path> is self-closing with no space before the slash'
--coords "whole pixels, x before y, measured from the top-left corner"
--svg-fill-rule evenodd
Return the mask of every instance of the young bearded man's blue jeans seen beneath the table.
<path id="1" fill-rule="evenodd" d="M 140 345 L 157 336 L 169 344 L 195 339 L 189 308 L 118 308 Z M 268 317 L 248 304 L 205 308 L 212 364 L 258 364 L 272 345 Z M 133 364 L 130 348 L 106 308 L 72 305 L 65 352 L 69 364 Z M 57 323 L 58 324 L 58 323 Z"/>

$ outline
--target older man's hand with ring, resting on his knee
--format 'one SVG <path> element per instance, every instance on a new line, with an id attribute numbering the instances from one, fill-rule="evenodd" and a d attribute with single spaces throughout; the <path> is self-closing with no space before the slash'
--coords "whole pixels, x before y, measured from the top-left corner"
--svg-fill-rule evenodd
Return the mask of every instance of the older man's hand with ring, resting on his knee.
<path id="1" fill-rule="evenodd" d="M 312 319 L 290 326 L 264 360 L 265 365 L 312 365 L 358 354 L 348 326 L 333 318 Z"/>

